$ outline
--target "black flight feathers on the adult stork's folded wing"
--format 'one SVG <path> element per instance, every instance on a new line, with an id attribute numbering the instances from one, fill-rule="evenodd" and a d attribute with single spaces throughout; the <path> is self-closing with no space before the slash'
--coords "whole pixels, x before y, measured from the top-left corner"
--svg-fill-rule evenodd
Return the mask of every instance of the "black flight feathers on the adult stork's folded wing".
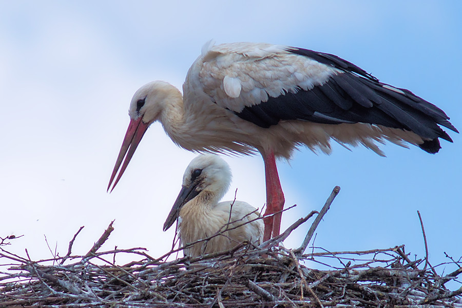
<path id="1" fill-rule="evenodd" d="M 370 123 L 415 132 L 429 140 L 420 147 L 435 153 L 437 138 L 452 141 L 439 125 L 457 132 L 444 111 L 417 97 L 411 91 L 380 83 L 378 79 L 338 56 L 307 49 L 289 50 L 295 54 L 340 69 L 322 85 L 310 90 L 287 92 L 268 101 L 245 107 L 236 114 L 260 127 L 280 120 L 303 120 L 323 124 Z M 396 90 L 394 90 L 396 89 Z"/>

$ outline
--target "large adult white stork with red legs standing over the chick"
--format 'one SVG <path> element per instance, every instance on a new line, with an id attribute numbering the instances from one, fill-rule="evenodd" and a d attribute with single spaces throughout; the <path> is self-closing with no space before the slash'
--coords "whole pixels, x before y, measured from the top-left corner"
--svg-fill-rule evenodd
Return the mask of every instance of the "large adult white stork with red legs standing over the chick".
<path id="1" fill-rule="evenodd" d="M 166 82 L 148 83 L 134 93 L 129 115 L 108 189 L 124 157 L 114 187 L 148 126 L 160 121 L 187 150 L 258 150 L 265 165 L 265 216 L 284 204 L 275 158 L 290 158 L 297 146 L 330 153 L 332 139 L 383 156 L 376 142 L 388 140 L 436 153 L 438 138 L 452 142 L 439 125 L 457 132 L 435 105 L 338 56 L 255 43 L 207 44 L 186 75 L 183 95 Z M 280 221 L 280 213 L 265 217 L 264 240 L 279 234 Z"/>

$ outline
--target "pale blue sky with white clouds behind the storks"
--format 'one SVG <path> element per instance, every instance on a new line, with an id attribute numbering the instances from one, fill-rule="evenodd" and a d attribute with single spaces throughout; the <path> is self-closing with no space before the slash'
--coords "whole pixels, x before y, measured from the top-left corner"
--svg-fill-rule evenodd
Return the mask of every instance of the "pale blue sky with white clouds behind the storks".
<path id="1" fill-rule="evenodd" d="M 133 93 L 152 80 L 181 88 L 210 39 L 336 54 L 432 102 L 462 129 L 460 1 L 0 1 L 0 236 L 24 235 L 10 251 L 48 258 L 45 235 L 63 256 L 84 225 L 73 253 L 85 254 L 114 219 L 102 250 L 169 251 L 173 228 L 163 233 L 162 225 L 195 155 L 152 125 L 118 186 L 111 194 L 106 187 Z M 387 158 L 360 147 L 334 145 L 331 156 L 301 149 L 278 163 L 286 206 L 298 205 L 282 229 L 320 209 L 339 185 L 316 246 L 405 244 L 411 259 L 425 257 L 420 210 L 432 265 L 450 261 L 444 252 L 460 258 L 462 139 L 448 132 L 454 143 L 441 141 L 436 155 L 393 144 L 381 146 Z M 238 188 L 239 200 L 261 207 L 262 159 L 225 160 L 234 173 L 226 200 Z M 298 247 L 310 225 L 285 246 Z"/>

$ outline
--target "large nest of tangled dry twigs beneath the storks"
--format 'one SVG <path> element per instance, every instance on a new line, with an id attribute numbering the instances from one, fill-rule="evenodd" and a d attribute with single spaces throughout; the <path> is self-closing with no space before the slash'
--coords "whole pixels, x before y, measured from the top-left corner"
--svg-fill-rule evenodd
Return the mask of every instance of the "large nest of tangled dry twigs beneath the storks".
<path id="1" fill-rule="evenodd" d="M 459 262 L 454 262 L 456 271 L 442 277 L 427 258 L 410 261 L 403 246 L 362 252 L 318 248 L 303 254 L 337 192 L 297 249 L 278 244 L 315 213 L 259 247 L 241 243 L 227 252 L 169 262 L 163 260 L 181 248 L 158 259 L 144 248 L 98 252 L 112 223 L 85 256 L 71 255 L 79 232 L 68 254 L 52 260 L 8 253 L 8 239 L 2 239 L 0 259 L 8 260 L 9 272 L 0 272 L 0 307 L 462 307 L 462 287 L 445 287 L 462 273 Z M 114 264 L 121 253 L 143 259 Z M 333 259 L 342 266 L 320 271 L 302 262 L 328 265 Z"/>

